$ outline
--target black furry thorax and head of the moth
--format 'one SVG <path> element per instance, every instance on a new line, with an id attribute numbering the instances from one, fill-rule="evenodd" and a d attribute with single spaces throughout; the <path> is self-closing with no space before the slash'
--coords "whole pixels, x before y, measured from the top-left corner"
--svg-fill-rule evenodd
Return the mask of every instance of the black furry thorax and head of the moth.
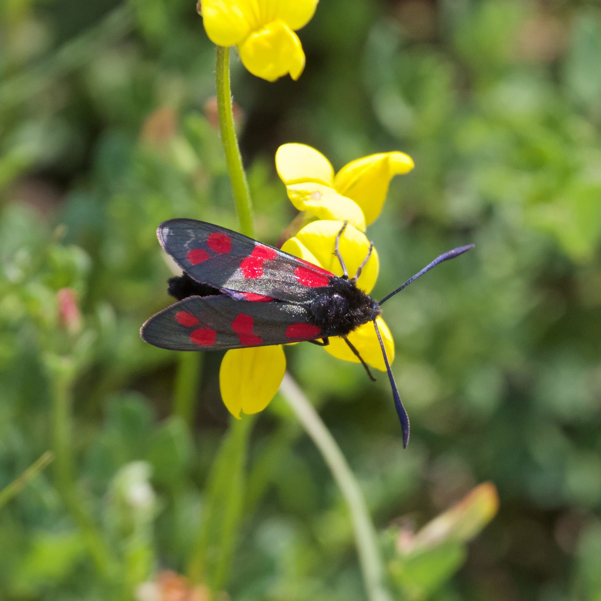
<path id="1" fill-rule="evenodd" d="M 332 280 L 309 303 L 313 323 L 331 336 L 344 336 L 382 313 L 369 294 L 343 278 Z"/>

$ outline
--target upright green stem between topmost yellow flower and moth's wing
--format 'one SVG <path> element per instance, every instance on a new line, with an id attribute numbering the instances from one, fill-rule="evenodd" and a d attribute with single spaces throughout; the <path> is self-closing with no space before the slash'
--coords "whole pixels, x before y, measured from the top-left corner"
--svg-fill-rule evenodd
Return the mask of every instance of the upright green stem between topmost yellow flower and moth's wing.
<path id="1" fill-rule="evenodd" d="M 219 117 L 219 132 L 221 144 L 224 147 L 225 162 L 231 181 L 231 191 L 236 203 L 236 213 L 240 221 L 240 231 L 245 236 L 254 237 L 252 225 L 251 193 L 246 182 L 246 174 L 242 165 L 242 156 L 236 129 L 234 129 L 234 114 L 231 106 L 230 88 L 230 49 L 217 46 L 217 61 L 215 64 L 215 83 L 217 88 L 217 115 Z"/>

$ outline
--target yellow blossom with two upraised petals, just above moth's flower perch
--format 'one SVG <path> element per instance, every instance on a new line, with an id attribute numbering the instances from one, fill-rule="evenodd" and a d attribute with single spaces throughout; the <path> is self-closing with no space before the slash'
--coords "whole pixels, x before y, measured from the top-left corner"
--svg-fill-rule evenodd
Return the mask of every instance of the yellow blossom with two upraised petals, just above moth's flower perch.
<path id="1" fill-rule="evenodd" d="M 380 215 L 392 177 L 411 171 L 413 160 L 401 152 L 371 154 L 334 175 L 329 160 L 315 148 L 283 144 L 275 166 L 296 209 L 319 219 L 347 219 L 365 231 Z"/>

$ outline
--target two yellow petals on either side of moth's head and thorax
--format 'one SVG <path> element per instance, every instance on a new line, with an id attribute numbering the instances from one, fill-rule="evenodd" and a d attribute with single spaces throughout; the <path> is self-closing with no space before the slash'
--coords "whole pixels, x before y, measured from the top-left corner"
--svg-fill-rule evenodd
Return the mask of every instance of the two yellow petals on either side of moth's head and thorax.
<path id="1" fill-rule="evenodd" d="M 343 275 L 342 267 L 333 252 L 336 234 L 338 234 L 342 225 L 343 222 L 341 221 L 314 221 L 305 225 L 296 236 L 286 240 L 282 245 L 282 251 L 289 252 L 291 255 L 300 257 L 305 261 L 310 261 L 336 275 Z M 340 254 L 343 256 L 344 263 L 346 263 L 349 276 L 352 277 L 355 274 L 357 267 L 367 256 L 369 248 L 370 242 L 365 234 L 353 225 L 347 225 L 346 230 L 340 237 Z M 369 294 L 376 283 L 378 270 L 379 259 L 377 251 L 374 249 L 370 260 L 367 261 L 359 276 L 358 287 Z M 382 334 L 388 360 L 392 363 L 394 361 L 392 335 L 382 317 L 377 318 L 377 325 L 380 328 L 380 334 Z M 365 323 L 359 326 L 347 338 L 359 351 L 366 363 L 378 370 L 386 371 L 382 349 L 380 349 L 373 323 Z M 359 363 L 359 359 L 353 355 L 342 338 L 334 336 L 329 341 L 329 346 L 324 348 L 330 355 L 344 361 Z"/>

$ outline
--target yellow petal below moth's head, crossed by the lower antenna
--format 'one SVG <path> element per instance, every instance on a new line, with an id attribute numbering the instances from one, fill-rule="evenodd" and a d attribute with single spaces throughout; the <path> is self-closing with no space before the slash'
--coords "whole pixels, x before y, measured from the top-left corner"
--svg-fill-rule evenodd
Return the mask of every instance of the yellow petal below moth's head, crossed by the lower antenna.
<path id="1" fill-rule="evenodd" d="M 380 328 L 380 334 L 382 334 L 382 341 L 386 349 L 386 355 L 388 355 L 388 361 L 392 363 L 394 361 L 394 340 L 392 340 L 392 334 L 382 317 L 377 317 L 376 321 L 378 328 Z M 376 328 L 374 328 L 373 323 L 365 323 L 359 326 L 359 328 L 349 334 L 348 338 L 366 363 L 377 370 L 386 371 L 382 349 L 380 348 Z M 359 359 L 353 355 L 344 340 L 338 336 L 330 338 L 330 344 L 324 348 L 330 355 L 337 359 L 359 363 Z"/>

